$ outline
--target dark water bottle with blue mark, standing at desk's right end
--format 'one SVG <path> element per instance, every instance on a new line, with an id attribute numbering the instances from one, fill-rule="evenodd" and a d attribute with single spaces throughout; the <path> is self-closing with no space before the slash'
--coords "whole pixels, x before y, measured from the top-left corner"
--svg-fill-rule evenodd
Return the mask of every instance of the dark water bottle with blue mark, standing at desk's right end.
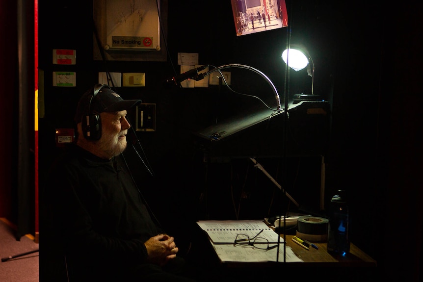
<path id="1" fill-rule="evenodd" d="M 345 256 L 349 253 L 349 215 L 344 190 L 338 190 L 330 201 L 327 251 Z"/>

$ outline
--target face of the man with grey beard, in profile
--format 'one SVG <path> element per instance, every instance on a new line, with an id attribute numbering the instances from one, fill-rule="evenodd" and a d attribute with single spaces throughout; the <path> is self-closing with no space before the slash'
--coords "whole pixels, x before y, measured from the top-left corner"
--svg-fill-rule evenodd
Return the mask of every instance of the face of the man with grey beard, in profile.
<path id="1" fill-rule="evenodd" d="M 102 121 L 102 136 L 99 140 L 99 149 L 111 157 L 122 153 L 126 146 L 126 134 L 131 128 L 126 119 L 127 111 L 103 112 L 100 114 Z"/>

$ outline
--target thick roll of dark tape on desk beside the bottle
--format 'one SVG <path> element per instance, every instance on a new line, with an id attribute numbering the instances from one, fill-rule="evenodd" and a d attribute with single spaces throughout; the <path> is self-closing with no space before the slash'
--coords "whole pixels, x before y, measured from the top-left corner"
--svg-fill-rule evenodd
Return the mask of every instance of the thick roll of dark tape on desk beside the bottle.
<path id="1" fill-rule="evenodd" d="M 311 242 L 326 242 L 329 220 L 322 217 L 298 218 L 297 236 Z"/>

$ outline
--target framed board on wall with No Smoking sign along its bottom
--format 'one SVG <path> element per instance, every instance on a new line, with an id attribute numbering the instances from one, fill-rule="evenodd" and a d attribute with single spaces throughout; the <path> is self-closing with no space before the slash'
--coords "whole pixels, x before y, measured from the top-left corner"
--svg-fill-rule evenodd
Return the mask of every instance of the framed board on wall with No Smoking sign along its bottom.
<path id="1" fill-rule="evenodd" d="M 165 60 L 161 29 L 167 15 L 163 14 L 163 2 L 94 0 L 94 59 Z"/>

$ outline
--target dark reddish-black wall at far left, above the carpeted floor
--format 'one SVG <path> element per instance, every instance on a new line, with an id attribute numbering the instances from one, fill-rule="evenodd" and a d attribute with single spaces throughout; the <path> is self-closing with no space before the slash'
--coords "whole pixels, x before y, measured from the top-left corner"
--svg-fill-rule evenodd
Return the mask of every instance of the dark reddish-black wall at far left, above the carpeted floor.
<path id="1" fill-rule="evenodd" d="M 0 217 L 13 222 L 17 240 L 34 233 L 34 9 L 0 1 L 2 142 Z M 29 40 L 26 40 L 29 38 Z"/>

